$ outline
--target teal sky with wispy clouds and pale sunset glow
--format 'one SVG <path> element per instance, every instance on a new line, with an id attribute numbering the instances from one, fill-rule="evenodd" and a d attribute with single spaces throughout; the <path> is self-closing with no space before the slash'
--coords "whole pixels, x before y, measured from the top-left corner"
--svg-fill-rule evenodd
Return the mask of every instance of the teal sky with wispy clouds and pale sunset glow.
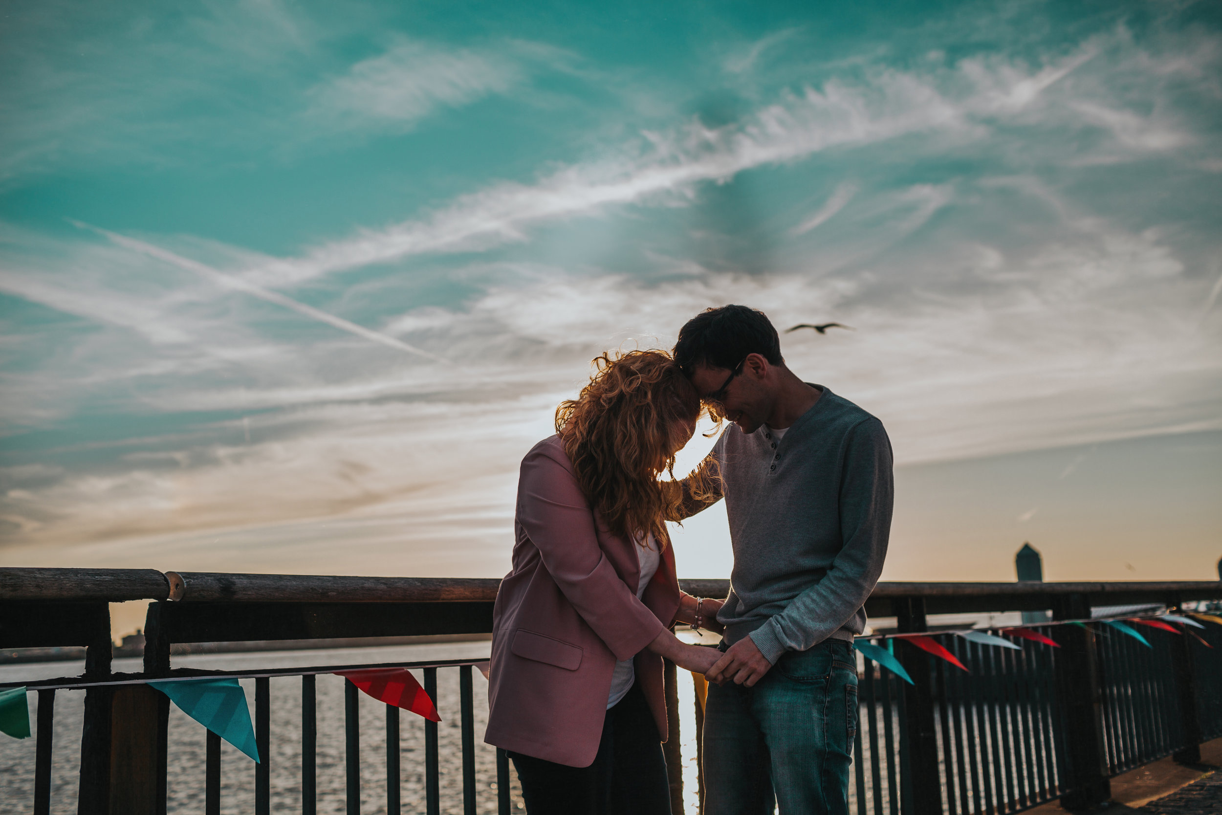
<path id="1" fill-rule="evenodd" d="M 852 326 L 884 579 L 1218 577 L 1216 4 L 0 20 L 2 566 L 501 576 L 590 359 L 743 303 Z"/>

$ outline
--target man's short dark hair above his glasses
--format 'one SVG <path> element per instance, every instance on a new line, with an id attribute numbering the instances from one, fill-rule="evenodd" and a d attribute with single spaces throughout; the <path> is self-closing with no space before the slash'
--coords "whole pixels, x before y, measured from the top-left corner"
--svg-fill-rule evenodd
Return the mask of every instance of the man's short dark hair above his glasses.
<path id="1" fill-rule="evenodd" d="M 709 308 L 679 329 L 675 362 L 687 376 L 697 365 L 734 369 L 748 354 L 758 353 L 772 365 L 781 357 L 781 337 L 764 312 L 745 305 Z"/>

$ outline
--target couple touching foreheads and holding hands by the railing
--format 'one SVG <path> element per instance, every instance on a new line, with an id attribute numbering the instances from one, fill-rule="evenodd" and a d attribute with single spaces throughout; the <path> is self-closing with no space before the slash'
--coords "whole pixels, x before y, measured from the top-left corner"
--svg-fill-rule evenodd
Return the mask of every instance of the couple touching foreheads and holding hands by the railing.
<path id="1" fill-rule="evenodd" d="M 662 657 L 704 673 L 706 815 L 847 813 L 853 635 L 882 571 L 891 445 L 882 424 L 781 358 L 743 305 L 683 326 L 673 356 L 604 354 L 556 435 L 522 461 L 513 571 L 492 628 L 485 740 L 528 815 L 670 814 Z M 701 409 L 728 419 L 688 478 L 659 480 Z M 676 578 L 667 521 L 725 499 L 730 596 Z M 722 632 L 717 649 L 671 627 Z"/>

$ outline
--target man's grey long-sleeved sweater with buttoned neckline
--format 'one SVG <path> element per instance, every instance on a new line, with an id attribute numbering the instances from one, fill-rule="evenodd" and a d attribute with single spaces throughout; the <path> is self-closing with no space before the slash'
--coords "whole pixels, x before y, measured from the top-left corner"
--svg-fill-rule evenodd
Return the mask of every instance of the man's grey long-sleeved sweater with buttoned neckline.
<path id="1" fill-rule="evenodd" d="M 730 428 L 712 456 L 734 549 L 717 613 L 733 644 L 750 635 L 769 662 L 865 630 L 866 598 L 887 554 L 893 497 L 882 423 L 826 387 L 783 439 Z"/>

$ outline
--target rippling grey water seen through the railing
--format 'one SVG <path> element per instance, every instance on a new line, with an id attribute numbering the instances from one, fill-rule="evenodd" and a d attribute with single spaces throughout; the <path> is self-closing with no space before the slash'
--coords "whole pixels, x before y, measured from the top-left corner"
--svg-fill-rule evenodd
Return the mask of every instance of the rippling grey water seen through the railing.
<path id="1" fill-rule="evenodd" d="M 392 648 L 273 651 L 262 654 L 200 654 L 176 656 L 175 667 L 252 671 L 269 667 L 419 662 L 447 659 L 486 659 L 489 643 L 446 643 Z M 115 672 L 137 672 L 136 659 L 115 660 Z M 43 662 L 0 667 L 0 682 L 23 682 L 78 676 L 84 662 Z M 684 809 L 697 811 L 695 696 L 692 677 L 679 671 L 679 728 L 683 754 Z M 417 679 L 423 684 L 420 672 Z M 479 813 L 496 813 L 496 751 L 484 744 L 488 726 L 488 682 L 474 677 L 475 778 Z M 254 681 L 242 679 L 247 703 L 254 711 Z M 271 678 L 271 811 L 301 811 L 301 678 Z M 320 674 L 318 694 L 318 811 L 343 813 L 345 725 L 343 679 Z M 31 727 L 37 721 L 38 698 L 29 694 Z M 71 815 L 77 805 L 81 761 L 81 725 L 84 692 L 55 694 L 55 738 L 51 771 L 51 813 Z M 360 798 L 362 813 L 386 811 L 385 705 L 360 694 Z M 441 811 L 462 813 L 462 729 L 459 723 L 458 668 L 437 670 L 437 728 L 441 767 Z M 0 815 L 29 813 L 34 799 L 34 742 L 0 736 Z M 170 706 L 167 811 L 203 815 L 204 728 L 176 706 Z M 424 720 L 400 714 L 401 795 L 404 813 L 424 811 Z M 511 800 L 513 813 L 524 813 L 517 777 Z M 254 810 L 254 762 L 229 743 L 221 743 L 221 811 L 237 815 Z"/>

